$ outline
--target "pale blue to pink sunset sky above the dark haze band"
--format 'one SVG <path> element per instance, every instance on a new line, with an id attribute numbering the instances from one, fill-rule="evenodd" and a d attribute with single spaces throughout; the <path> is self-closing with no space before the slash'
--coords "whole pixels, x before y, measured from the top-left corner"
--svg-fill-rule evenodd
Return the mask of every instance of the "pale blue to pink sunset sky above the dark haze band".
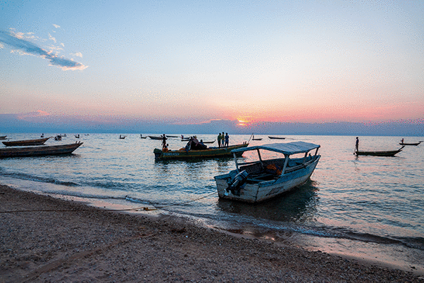
<path id="1" fill-rule="evenodd" d="M 0 14 L 0 115 L 424 123 L 423 1 L 21 0 Z"/>

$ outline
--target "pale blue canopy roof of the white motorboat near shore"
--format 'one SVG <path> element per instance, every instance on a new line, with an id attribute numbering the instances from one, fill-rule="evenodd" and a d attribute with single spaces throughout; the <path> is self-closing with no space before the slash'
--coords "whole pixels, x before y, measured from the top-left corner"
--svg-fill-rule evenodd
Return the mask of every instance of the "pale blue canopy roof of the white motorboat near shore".
<path id="1" fill-rule="evenodd" d="M 287 142 L 287 143 L 276 143 L 276 144 L 263 144 L 261 146 L 249 146 L 243 149 L 233 149 L 231 152 L 243 152 L 243 151 L 254 151 L 257 149 L 265 149 L 267 151 L 275 151 L 284 155 L 292 155 L 296 153 L 305 153 L 312 149 L 320 148 L 319 144 L 311 144 L 308 142 Z"/>

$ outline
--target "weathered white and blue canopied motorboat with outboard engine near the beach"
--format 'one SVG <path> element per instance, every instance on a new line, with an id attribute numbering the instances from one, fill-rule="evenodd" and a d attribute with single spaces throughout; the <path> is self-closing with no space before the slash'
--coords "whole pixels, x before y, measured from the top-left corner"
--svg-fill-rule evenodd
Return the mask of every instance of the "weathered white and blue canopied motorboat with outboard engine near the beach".
<path id="1" fill-rule="evenodd" d="M 320 155 L 320 145 L 307 142 L 263 144 L 235 149 L 236 169 L 215 176 L 218 196 L 222 199 L 258 203 L 291 191 L 304 184 L 315 170 Z M 315 149 L 315 154 L 308 155 Z M 238 163 L 237 153 L 256 151 L 258 158 L 247 163 Z M 263 160 L 263 151 L 281 153 L 281 158 Z M 292 158 L 292 155 L 301 157 Z M 275 156 L 275 155 L 274 155 Z"/>

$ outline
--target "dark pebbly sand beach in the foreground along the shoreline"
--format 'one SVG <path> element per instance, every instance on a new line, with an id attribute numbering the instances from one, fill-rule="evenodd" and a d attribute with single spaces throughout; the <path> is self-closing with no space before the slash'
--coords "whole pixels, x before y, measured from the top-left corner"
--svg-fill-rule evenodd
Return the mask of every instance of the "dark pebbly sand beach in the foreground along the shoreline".
<path id="1" fill-rule="evenodd" d="M 424 282 L 412 272 L 0 185 L 0 282 Z"/>

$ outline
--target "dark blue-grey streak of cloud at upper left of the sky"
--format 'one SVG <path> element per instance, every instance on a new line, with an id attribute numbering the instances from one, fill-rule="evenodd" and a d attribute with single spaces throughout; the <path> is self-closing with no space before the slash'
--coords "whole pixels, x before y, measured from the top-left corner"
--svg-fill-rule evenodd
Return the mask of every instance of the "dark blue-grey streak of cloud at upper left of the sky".
<path id="1" fill-rule="evenodd" d="M 13 49 L 18 49 L 23 54 L 30 54 L 35 56 L 40 56 L 50 61 L 50 65 L 56 65 L 62 70 L 84 70 L 88 66 L 82 65 L 82 63 L 59 57 L 56 54 L 52 54 L 46 49 L 42 49 L 32 42 L 28 42 L 25 39 L 20 39 L 13 36 L 8 32 L 0 30 L 0 42 L 11 46 Z"/>

